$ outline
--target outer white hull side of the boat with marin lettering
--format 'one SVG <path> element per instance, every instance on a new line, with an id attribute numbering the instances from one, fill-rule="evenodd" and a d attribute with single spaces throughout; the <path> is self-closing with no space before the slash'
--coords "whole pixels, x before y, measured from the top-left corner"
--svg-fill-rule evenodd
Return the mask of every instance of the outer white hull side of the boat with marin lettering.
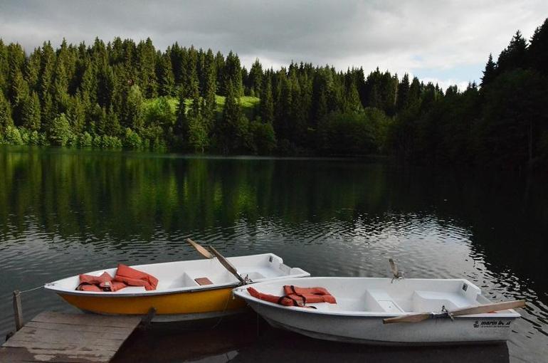
<path id="1" fill-rule="evenodd" d="M 384 317 L 303 314 L 295 310 L 249 303 L 273 327 L 337 342 L 390 345 L 478 344 L 503 342 L 514 318 L 463 318 L 420 323 L 383 324 Z"/>

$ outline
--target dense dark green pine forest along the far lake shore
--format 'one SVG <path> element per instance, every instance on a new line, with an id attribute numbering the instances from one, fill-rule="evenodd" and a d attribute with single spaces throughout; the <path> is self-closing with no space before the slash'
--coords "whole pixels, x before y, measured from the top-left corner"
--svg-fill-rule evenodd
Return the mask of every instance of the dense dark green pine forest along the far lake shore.
<path id="1" fill-rule="evenodd" d="M 0 143 L 217 154 L 392 154 L 548 164 L 548 19 L 518 31 L 480 85 L 443 90 L 378 68 L 291 63 L 115 38 L 26 54 L 0 39 Z"/>

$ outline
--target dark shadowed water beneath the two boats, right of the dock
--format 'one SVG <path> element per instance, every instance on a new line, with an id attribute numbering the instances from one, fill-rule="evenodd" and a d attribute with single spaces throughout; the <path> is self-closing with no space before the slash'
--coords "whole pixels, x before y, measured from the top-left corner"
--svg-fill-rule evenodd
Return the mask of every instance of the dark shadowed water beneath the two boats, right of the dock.
<path id="1" fill-rule="evenodd" d="M 270 327 L 256 317 L 214 329 L 161 327 L 137 332 L 113 363 L 129 362 L 509 362 L 506 344 L 381 347 L 315 340 Z M 242 321 L 243 320 L 243 321 Z M 210 325 L 211 326 L 211 325 Z M 184 342 L 184 344 L 181 344 Z M 180 348 L 179 348 L 180 347 Z"/>

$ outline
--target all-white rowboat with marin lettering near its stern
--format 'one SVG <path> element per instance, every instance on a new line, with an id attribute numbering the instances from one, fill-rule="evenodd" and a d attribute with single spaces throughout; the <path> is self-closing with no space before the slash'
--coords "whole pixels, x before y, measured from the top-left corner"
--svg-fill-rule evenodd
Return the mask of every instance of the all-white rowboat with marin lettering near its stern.
<path id="1" fill-rule="evenodd" d="M 300 278 L 258 283 L 253 288 L 260 293 L 281 296 L 284 285 L 325 288 L 337 303 L 306 304 L 315 309 L 283 306 L 254 298 L 247 286 L 235 288 L 233 294 L 246 300 L 274 327 L 343 342 L 462 344 L 504 341 L 510 334 L 512 322 L 520 314 L 511 309 L 500 310 L 500 305 L 525 305 L 525 302 L 490 304 L 480 288 L 463 279 Z M 470 315 L 472 310 L 461 309 L 470 306 L 475 307 L 474 311 L 500 311 Z M 423 312 L 427 313 L 411 315 Z M 384 322 L 394 317 L 418 320 L 417 316 L 426 320 Z"/>

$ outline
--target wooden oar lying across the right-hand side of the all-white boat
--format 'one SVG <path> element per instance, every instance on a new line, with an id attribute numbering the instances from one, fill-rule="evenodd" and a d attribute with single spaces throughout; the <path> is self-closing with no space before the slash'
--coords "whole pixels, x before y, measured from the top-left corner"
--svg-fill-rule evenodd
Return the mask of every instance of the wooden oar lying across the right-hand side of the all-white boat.
<path id="1" fill-rule="evenodd" d="M 524 306 L 525 300 L 493 302 L 492 304 L 461 307 L 460 309 L 455 309 L 448 312 L 418 312 L 416 314 L 389 317 L 387 319 L 383 319 L 382 322 L 384 322 L 384 324 L 389 324 L 391 322 L 421 322 L 431 317 L 453 317 L 458 315 L 483 314 L 485 312 L 516 309 L 517 307 Z"/>

